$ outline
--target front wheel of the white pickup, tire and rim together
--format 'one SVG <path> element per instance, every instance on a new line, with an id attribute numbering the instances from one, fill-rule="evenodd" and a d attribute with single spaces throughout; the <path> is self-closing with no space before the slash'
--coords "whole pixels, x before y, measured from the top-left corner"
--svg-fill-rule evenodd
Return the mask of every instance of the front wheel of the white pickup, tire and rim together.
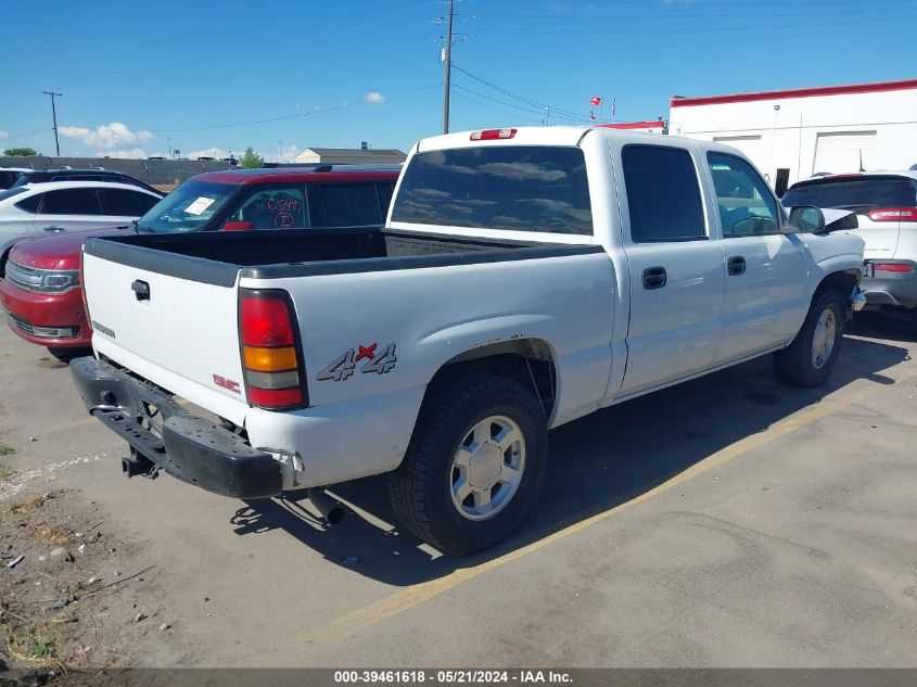
<path id="1" fill-rule="evenodd" d="M 846 302 L 839 291 L 816 296 L 793 342 L 774 354 L 780 381 L 812 389 L 827 381 L 838 361 L 844 333 Z"/>

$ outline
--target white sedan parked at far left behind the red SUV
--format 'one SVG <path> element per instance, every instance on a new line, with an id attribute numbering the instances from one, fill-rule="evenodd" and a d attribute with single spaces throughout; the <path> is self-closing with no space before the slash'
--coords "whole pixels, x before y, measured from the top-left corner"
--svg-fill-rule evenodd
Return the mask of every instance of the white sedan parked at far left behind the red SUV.
<path id="1" fill-rule="evenodd" d="M 145 189 L 107 181 L 51 181 L 0 191 L 0 256 L 28 237 L 126 225 L 161 200 Z"/>

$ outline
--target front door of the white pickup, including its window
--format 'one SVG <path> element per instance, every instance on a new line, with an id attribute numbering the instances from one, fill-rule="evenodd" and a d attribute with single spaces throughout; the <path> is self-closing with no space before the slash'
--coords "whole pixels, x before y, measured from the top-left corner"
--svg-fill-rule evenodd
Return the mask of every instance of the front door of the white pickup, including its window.
<path id="1" fill-rule="evenodd" d="M 716 362 L 744 358 L 793 338 L 808 306 L 807 267 L 799 234 L 780 232 L 777 199 L 746 160 L 706 154 L 716 194 L 726 297 Z"/>

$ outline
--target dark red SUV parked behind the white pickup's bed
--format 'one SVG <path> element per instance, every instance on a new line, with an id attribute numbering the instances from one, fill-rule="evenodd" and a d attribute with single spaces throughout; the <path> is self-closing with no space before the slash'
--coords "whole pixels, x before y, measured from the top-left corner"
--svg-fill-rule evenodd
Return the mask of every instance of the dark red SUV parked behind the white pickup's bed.
<path id="1" fill-rule="evenodd" d="M 286 167 L 193 177 L 127 227 L 16 243 L 0 256 L 0 302 L 10 328 L 58 358 L 85 355 L 92 331 L 79 287 L 82 243 L 126 232 L 246 231 L 379 226 L 398 168 Z"/>

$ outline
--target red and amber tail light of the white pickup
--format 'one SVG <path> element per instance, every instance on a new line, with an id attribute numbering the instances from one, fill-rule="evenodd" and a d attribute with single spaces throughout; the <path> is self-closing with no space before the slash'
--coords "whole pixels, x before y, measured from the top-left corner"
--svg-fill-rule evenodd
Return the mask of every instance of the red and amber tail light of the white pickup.
<path id="1" fill-rule="evenodd" d="M 284 291 L 242 289 L 239 333 L 249 403 L 271 410 L 308 405 L 290 295 Z"/>

